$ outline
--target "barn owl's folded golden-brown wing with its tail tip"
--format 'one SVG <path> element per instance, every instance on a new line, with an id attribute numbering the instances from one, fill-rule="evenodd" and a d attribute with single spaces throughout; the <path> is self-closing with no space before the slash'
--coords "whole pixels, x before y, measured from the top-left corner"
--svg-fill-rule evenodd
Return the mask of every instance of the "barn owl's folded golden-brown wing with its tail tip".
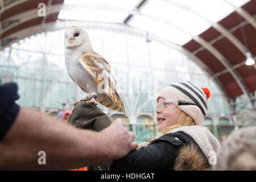
<path id="1" fill-rule="evenodd" d="M 123 102 L 115 90 L 115 79 L 108 62 L 97 53 L 85 53 L 80 57 L 79 63 L 101 88 L 102 94 L 96 101 L 109 109 L 125 113 Z"/>

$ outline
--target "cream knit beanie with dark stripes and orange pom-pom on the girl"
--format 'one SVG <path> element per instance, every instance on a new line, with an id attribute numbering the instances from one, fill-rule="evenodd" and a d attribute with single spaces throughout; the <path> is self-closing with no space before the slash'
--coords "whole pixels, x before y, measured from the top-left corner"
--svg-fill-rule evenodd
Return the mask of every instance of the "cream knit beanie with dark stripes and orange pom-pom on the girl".
<path id="1" fill-rule="evenodd" d="M 210 97 L 210 91 L 208 88 L 198 88 L 190 81 L 183 81 L 167 86 L 162 89 L 156 101 L 159 98 L 168 98 L 171 101 L 185 101 L 191 102 L 196 105 L 179 105 L 179 109 L 187 113 L 194 119 L 197 126 L 201 126 L 204 122 L 204 118 L 207 115 L 208 98 Z"/>

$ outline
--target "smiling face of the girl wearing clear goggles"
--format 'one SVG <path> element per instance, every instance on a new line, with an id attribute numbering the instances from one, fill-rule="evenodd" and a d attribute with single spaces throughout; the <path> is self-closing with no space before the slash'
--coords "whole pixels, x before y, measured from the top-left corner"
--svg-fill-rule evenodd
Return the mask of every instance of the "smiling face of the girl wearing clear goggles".
<path id="1" fill-rule="evenodd" d="M 158 102 L 162 102 L 164 98 L 159 98 Z M 182 111 L 177 106 L 166 107 L 162 110 L 156 110 L 156 121 L 158 122 L 158 131 L 160 132 L 165 127 L 176 125 L 179 121 Z"/>

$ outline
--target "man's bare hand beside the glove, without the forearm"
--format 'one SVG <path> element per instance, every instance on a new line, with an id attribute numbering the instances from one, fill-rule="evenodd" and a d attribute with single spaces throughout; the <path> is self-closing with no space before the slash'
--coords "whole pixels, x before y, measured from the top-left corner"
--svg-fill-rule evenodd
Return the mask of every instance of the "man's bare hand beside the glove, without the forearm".
<path id="1" fill-rule="evenodd" d="M 119 159 L 135 150 L 138 143 L 133 142 L 135 135 L 129 132 L 122 124 L 122 119 L 118 118 L 106 129 L 100 132 L 102 134 L 102 143 L 109 150 L 110 159 Z"/>

